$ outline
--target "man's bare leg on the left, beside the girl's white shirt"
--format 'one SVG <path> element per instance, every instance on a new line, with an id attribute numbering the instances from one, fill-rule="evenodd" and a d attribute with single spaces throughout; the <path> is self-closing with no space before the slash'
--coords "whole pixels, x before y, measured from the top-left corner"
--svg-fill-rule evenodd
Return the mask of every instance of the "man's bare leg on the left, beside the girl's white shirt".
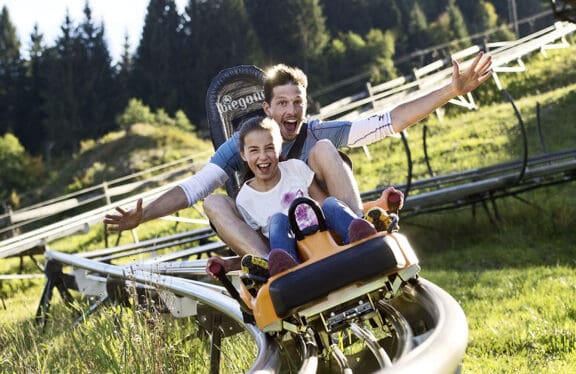
<path id="1" fill-rule="evenodd" d="M 248 253 L 265 256 L 270 251 L 264 238 L 244 222 L 234 200 L 230 197 L 222 194 L 206 197 L 204 199 L 204 212 L 216 229 L 218 236 L 238 256 L 244 256 Z"/>

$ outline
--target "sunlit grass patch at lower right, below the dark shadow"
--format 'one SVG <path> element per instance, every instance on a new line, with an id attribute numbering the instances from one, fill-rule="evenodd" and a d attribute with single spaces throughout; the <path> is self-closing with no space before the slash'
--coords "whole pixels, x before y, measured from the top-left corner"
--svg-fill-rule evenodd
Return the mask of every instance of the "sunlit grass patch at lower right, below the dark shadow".
<path id="1" fill-rule="evenodd" d="M 470 336 L 464 372 L 546 372 L 576 357 L 573 267 L 529 267 L 463 274 L 427 271 L 460 302 Z M 463 291 L 464 290 L 464 291 Z M 501 361 L 507 361 L 506 366 Z M 554 371 L 548 371 L 553 373 Z"/>

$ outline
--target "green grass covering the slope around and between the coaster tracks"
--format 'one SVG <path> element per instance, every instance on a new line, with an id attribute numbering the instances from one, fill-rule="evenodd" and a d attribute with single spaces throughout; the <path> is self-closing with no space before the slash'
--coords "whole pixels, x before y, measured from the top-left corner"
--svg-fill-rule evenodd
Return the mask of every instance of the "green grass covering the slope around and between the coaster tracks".
<path id="1" fill-rule="evenodd" d="M 541 152 L 536 137 L 538 103 L 548 150 L 575 145 L 575 51 L 575 47 L 549 51 L 547 59 L 535 56 L 529 61 L 528 73 L 500 76 L 526 122 L 532 155 Z M 442 122 L 434 115 L 425 121 L 432 167 L 438 173 L 519 157 L 517 120 L 510 104 L 483 104 L 481 98 L 487 95 L 479 92 L 478 111 L 453 108 Z M 427 173 L 422 165 L 421 128 L 409 131 L 416 178 Z M 147 144 L 146 136 L 142 133 L 139 139 Z M 112 144 L 119 137 L 110 135 L 102 143 Z M 115 149 L 122 148 L 117 144 Z M 95 151 L 92 146 L 86 144 L 84 152 Z M 360 149 L 350 151 L 362 190 L 404 181 L 406 160 L 398 139 L 369 149 L 372 161 Z M 92 157 L 108 165 L 105 155 L 113 152 L 101 152 Z M 149 152 L 136 158 L 142 167 L 153 163 L 147 161 L 148 156 L 158 156 L 152 148 Z M 530 204 L 514 198 L 498 200 L 501 220 L 497 224 L 481 210 L 472 215 L 470 208 L 401 222 L 401 231 L 421 260 L 422 276 L 451 294 L 466 314 L 469 342 L 464 373 L 552 374 L 573 372 L 576 367 L 574 187 L 571 182 L 522 194 Z M 194 209 L 183 215 L 199 216 Z M 180 225 L 176 230 L 190 228 Z M 139 228 L 138 235 L 146 239 L 173 231 L 173 223 L 154 221 Z M 130 241 L 128 233 L 120 239 L 121 244 Z M 103 231 L 96 228 L 50 247 L 66 252 L 101 248 Z M 26 270 L 33 271 L 29 262 L 25 264 Z M 18 267 L 17 260 L 0 261 L 1 273 L 15 272 Z M 199 338 L 198 326 L 187 319 L 151 315 L 137 308 L 108 308 L 70 330 L 74 312 L 55 296 L 52 319 L 42 333 L 33 321 L 43 283 L 26 280 L 0 285 L 0 372 L 208 371 L 206 341 Z M 225 340 L 224 361 L 232 366 L 223 372 L 243 372 L 250 366 L 255 352 L 249 340 L 246 334 Z"/>

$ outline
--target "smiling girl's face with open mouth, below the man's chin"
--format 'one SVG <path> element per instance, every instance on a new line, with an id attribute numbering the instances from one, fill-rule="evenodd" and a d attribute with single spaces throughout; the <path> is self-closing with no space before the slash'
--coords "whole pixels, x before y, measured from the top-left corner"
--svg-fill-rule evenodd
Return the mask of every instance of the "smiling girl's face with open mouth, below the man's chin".
<path id="1" fill-rule="evenodd" d="M 246 134 L 240 155 L 248 163 L 257 180 L 276 183 L 280 179 L 278 168 L 280 149 L 274 143 L 270 131 L 255 130 Z"/>

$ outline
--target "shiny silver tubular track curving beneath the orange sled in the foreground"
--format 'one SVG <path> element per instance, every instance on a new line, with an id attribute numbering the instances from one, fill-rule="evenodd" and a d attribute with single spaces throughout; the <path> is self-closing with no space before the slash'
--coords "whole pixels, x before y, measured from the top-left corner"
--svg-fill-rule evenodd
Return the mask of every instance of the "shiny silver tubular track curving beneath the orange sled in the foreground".
<path id="1" fill-rule="evenodd" d="M 206 260 L 117 266 L 55 251 L 46 252 L 46 258 L 99 274 L 101 282 L 106 282 L 106 278 L 116 278 L 156 288 L 169 308 L 172 303 L 170 295 L 185 296 L 213 308 L 236 321 L 254 340 L 258 355 L 250 372 L 277 372 L 283 365 L 279 340 L 262 333 L 252 324 L 244 323 L 238 303 L 227 295 L 223 287 L 201 281 L 201 277 L 205 279 Z M 81 279 L 78 281 L 80 283 Z M 94 289 L 100 297 L 107 292 L 105 286 Z M 458 370 L 467 345 L 468 326 L 464 312 L 448 293 L 420 278 L 406 284 L 400 296 L 390 301 L 380 300 L 377 304 L 378 311 L 395 331 L 392 357 L 367 329 L 351 325 L 350 331 L 373 353 L 381 368 L 378 373 L 450 373 Z M 314 331 L 294 334 L 293 337 L 299 346 L 299 372 L 322 371 Z M 333 348 L 333 358 L 340 363 L 341 372 L 351 373 L 346 356 L 336 345 Z"/>

